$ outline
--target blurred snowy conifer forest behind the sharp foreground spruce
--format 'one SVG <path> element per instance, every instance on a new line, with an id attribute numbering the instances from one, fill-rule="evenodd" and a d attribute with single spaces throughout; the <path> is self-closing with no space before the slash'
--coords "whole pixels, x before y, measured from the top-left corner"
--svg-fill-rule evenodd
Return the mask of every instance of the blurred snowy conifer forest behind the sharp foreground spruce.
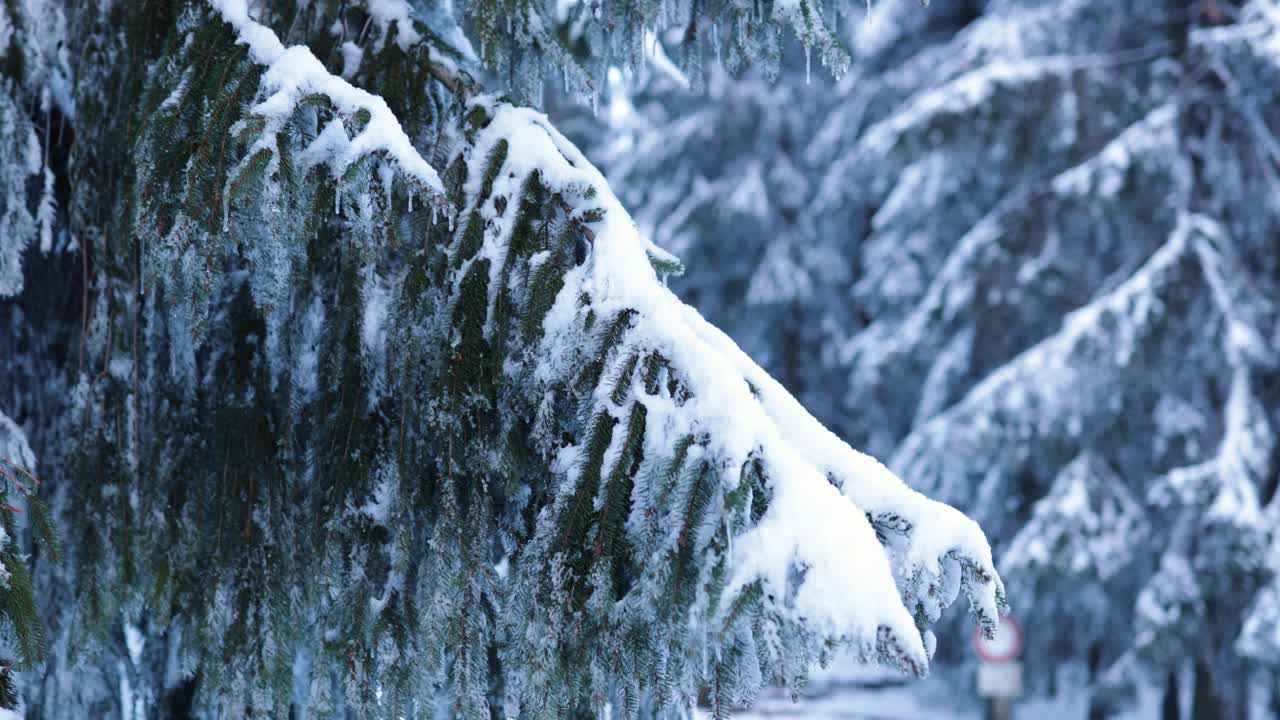
<path id="1" fill-rule="evenodd" d="M 686 74 L 673 32 L 550 115 L 696 268 L 682 299 L 982 524 L 1020 712 L 1277 716 L 1280 4 L 878 0 L 846 29 L 840 81 L 800 47 Z M 968 632 L 923 685 L 837 667 L 756 712 L 978 716 Z"/>

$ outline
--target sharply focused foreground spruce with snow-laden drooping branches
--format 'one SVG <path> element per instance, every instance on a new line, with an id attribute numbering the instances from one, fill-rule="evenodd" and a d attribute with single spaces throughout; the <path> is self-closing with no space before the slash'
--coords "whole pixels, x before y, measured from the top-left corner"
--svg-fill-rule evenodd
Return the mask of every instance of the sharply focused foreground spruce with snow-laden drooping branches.
<path id="1" fill-rule="evenodd" d="M 67 551 L 27 711 L 723 716 L 836 652 L 925 673 L 961 592 L 989 630 L 978 527 L 681 304 L 518 104 L 686 22 L 686 68 L 790 27 L 838 70 L 835 12 L 4 5 L 0 378 Z"/>

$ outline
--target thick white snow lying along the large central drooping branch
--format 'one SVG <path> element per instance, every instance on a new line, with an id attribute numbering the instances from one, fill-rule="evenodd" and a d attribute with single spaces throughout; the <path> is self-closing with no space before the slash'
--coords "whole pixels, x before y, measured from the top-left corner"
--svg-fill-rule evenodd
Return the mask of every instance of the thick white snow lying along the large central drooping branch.
<path id="1" fill-rule="evenodd" d="M 465 150 L 466 195 L 474 200 L 462 215 L 485 227 L 471 261 L 488 261 L 490 306 L 507 287 L 498 273 L 511 261 L 509 238 L 518 224 L 504 210 L 536 178 L 561 199 L 570 219 L 589 231 L 591 242 L 585 260 L 564 274 L 543 322 L 532 375 L 548 388 L 564 383 L 581 365 L 589 318 L 627 318 L 621 341 L 626 350 L 618 357 L 663 359 L 666 377 L 680 389 L 658 382 L 655 389 L 630 396 L 646 418 L 643 457 L 669 457 L 681 438 L 699 438 L 699 456 L 714 468 L 717 492 L 726 498 L 721 524 L 741 528 L 731 533 L 724 553 L 724 596 L 762 584 L 767 607 L 785 621 L 918 674 L 928 666 L 932 639 L 922 637 L 916 620 L 937 619 L 961 591 L 983 626 L 992 626 L 1004 591 L 978 525 L 840 441 L 732 340 L 667 290 L 652 260 L 654 246 L 600 173 L 545 117 L 492 97 L 475 99 L 476 108 L 489 119 Z M 622 365 L 614 377 L 626 379 L 627 373 Z M 611 414 L 620 410 L 617 387 L 609 382 L 594 391 Z M 558 466 L 575 466 L 581 452 L 561 450 Z M 744 482 L 745 471 L 739 470 L 753 464 L 763 468 L 769 505 L 758 523 L 739 524 L 727 498 Z M 636 482 L 645 475 L 635 473 Z M 571 483 L 580 480 L 570 473 Z M 719 527 L 708 525 L 712 532 Z M 719 612 L 732 606 L 721 603 Z"/>

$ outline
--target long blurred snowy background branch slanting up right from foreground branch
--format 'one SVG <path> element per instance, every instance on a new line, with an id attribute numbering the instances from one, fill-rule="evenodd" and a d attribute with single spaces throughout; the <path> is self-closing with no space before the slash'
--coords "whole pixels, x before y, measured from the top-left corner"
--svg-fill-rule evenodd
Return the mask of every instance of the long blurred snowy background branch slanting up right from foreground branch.
<path id="1" fill-rule="evenodd" d="M 1213 297 L 1222 242 L 1212 220 L 1179 215 L 1165 245 L 1130 279 L 1069 314 L 1056 334 L 915 429 L 891 466 L 942 500 L 960 501 L 972 493 L 970 478 L 1007 482 L 1039 447 L 1060 442 L 1079 450 L 1124 421 L 1126 398 L 1161 382 L 1149 373 L 1156 357 L 1194 359 L 1187 366 L 1197 373 L 1229 368 L 1230 343 L 1245 333 Z M 1172 318 L 1216 329 L 1188 338 Z M 986 512 L 992 518 L 979 516 L 984 523 L 1002 511 Z"/>

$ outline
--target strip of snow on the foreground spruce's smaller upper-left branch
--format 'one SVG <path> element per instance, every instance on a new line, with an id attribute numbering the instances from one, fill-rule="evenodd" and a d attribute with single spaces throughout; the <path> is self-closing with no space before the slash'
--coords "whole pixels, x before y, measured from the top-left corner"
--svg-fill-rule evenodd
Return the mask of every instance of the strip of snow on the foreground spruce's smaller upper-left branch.
<path id="1" fill-rule="evenodd" d="M 364 123 L 349 142 L 335 146 L 332 163 L 339 177 L 365 155 L 383 151 L 421 190 L 434 196 L 443 195 L 440 176 L 413 147 L 385 100 L 330 74 L 310 49 L 301 45 L 285 47 L 270 28 L 250 17 L 247 0 L 210 0 L 210 4 L 236 29 L 239 42 L 248 46 L 253 61 L 266 65 L 262 76 L 266 99 L 252 110 L 262 118 L 266 137 L 274 137 L 283 129 L 300 100 L 310 94 L 321 94 L 333 101 L 340 114 Z M 265 138 L 259 145 L 261 147 L 255 146 L 250 156 L 270 147 Z"/>

